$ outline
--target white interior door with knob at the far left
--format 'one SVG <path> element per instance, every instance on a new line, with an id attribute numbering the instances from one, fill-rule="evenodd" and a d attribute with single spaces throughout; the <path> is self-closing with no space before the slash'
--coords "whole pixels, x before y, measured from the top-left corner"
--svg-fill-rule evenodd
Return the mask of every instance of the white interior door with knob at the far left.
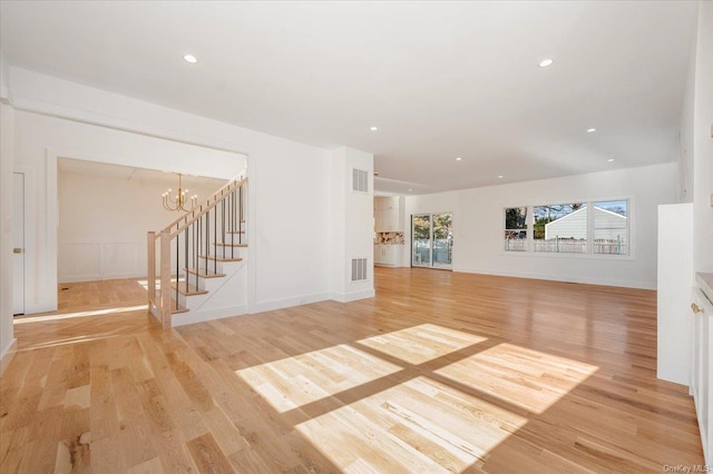
<path id="1" fill-rule="evenodd" d="M 13 174 L 12 314 L 25 314 L 25 175 Z"/>

